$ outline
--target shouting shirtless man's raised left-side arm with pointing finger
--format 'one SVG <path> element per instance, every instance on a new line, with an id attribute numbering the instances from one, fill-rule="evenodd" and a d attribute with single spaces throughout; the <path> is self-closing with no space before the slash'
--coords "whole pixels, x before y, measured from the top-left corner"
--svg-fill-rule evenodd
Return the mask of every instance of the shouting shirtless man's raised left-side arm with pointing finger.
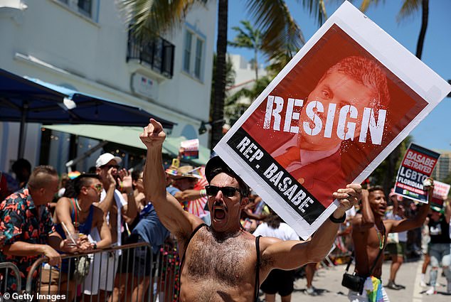
<path id="1" fill-rule="evenodd" d="M 166 193 L 166 176 L 163 170 L 161 149 L 166 134 L 163 126 L 154 119 L 144 127 L 139 139 L 147 146 L 143 182 L 146 200 L 151 200 L 161 223 L 173 234 L 191 234 L 196 217 L 185 212 L 179 202 Z"/>

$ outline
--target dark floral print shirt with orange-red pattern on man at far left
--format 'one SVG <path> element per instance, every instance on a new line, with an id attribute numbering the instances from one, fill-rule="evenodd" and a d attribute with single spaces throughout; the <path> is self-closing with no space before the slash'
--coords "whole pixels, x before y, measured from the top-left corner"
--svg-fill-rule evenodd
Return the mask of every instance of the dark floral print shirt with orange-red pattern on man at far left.
<path id="1" fill-rule="evenodd" d="M 30 244 L 46 244 L 48 235 L 55 232 L 51 213 L 46 205 L 36 206 L 33 203 L 28 188 L 18 190 L 9 195 L 0 203 L 0 231 L 4 232 L 4 246 L 14 242 L 27 242 Z M 1 248 L 1 247 L 0 247 Z M 31 265 L 41 255 L 36 256 L 6 256 L 0 252 L 1 262 L 12 262 L 21 273 L 22 289 L 26 285 L 26 276 Z M 33 279 L 37 281 L 38 271 L 34 272 Z M 1 290 L 18 291 L 16 277 L 11 269 L 6 278 L 5 271 L 0 271 Z M 36 284 L 35 284 L 36 286 Z M 34 286 L 33 286 L 34 287 Z M 1 291 L 0 290 L 0 291 Z"/>

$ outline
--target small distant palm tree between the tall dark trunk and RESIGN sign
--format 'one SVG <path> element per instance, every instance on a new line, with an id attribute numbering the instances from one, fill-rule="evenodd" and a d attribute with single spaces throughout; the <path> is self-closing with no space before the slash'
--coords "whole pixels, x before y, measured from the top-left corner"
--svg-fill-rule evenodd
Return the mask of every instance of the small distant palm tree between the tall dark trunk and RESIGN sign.
<path id="1" fill-rule="evenodd" d="M 232 29 L 238 33 L 233 41 L 228 42 L 228 45 L 254 50 L 253 67 L 255 68 L 255 80 L 258 81 L 258 51 L 262 47 L 262 33 L 253 28 L 249 21 L 240 21 L 240 23 L 244 28 L 233 26 Z"/>

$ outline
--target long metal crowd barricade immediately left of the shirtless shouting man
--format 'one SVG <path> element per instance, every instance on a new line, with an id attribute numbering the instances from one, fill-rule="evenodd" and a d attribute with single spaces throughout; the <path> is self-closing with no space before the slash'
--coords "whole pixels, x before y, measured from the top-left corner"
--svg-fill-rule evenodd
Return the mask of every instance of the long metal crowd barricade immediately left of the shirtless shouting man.
<path id="1" fill-rule="evenodd" d="M 63 264 L 53 267 L 47 257 L 36 260 L 28 272 L 26 293 L 44 295 L 41 301 L 51 301 L 48 295 L 57 294 L 65 295 L 65 301 L 83 302 L 177 300 L 179 258 L 174 245 L 164 245 L 154 253 L 148 243 L 140 242 L 90 254 L 65 254 L 61 259 Z M 90 266 L 82 279 L 83 262 Z M 38 279 L 33 279 L 36 272 Z"/>

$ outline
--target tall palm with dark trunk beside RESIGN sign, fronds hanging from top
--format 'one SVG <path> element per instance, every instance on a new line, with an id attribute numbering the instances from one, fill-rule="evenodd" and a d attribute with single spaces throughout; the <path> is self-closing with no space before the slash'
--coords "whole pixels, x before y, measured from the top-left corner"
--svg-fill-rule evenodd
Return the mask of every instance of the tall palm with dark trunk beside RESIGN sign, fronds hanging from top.
<path id="1" fill-rule="evenodd" d="M 298 0 L 300 1 L 300 0 Z M 119 0 L 120 8 L 138 36 L 149 36 L 181 26 L 187 11 L 195 4 L 203 5 L 206 0 Z M 255 25 L 265 36 L 262 37 L 262 51 L 271 60 L 283 45 L 302 45 L 302 33 L 290 15 L 285 1 L 245 0 L 245 6 Z M 324 20 L 324 0 L 302 0 L 302 6 Z M 216 72 L 212 122 L 224 116 L 226 86 L 228 0 L 218 0 L 218 41 L 216 43 Z M 211 148 L 222 137 L 222 124 L 213 123 Z"/>

